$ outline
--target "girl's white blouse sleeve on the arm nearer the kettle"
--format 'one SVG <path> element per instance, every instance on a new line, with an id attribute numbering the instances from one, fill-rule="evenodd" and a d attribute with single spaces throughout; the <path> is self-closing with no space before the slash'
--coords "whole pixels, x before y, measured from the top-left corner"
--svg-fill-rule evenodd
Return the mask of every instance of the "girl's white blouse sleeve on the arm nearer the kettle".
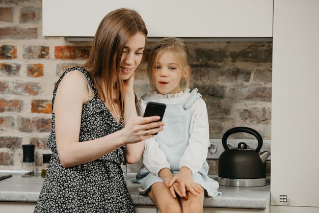
<path id="1" fill-rule="evenodd" d="M 189 145 L 180 159 L 180 168 L 187 167 L 192 173 L 198 172 L 207 158 L 209 125 L 206 103 L 202 98 L 192 105 Z"/>

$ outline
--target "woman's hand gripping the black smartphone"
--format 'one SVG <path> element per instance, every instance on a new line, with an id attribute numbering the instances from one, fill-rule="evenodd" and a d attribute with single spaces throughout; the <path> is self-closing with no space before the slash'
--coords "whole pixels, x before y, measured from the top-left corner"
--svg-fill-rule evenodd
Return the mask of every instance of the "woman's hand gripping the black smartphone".
<path id="1" fill-rule="evenodd" d="M 123 128 L 123 132 L 126 135 L 126 144 L 144 141 L 162 131 L 165 123 L 158 121 L 159 119 L 159 116 L 131 117 Z"/>

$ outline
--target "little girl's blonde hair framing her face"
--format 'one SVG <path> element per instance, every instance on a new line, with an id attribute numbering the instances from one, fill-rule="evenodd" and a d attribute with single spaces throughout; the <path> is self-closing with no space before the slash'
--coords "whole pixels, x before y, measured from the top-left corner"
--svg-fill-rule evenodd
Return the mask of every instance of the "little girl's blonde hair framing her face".
<path id="1" fill-rule="evenodd" d="M 191 59 L 189 50 L 182 39 L 176 37 L 166 37 L 155 43 L 150 52 L 150 57 L 147 65 L 147 74 L 150 79 L 151 88 L 155 90 L 154 73 L 158 56 L 163 52 L 171 51 L 177 66 L 181 71 L 182 80 L 180 81 L 181 88 L 189 88 L 191 84 Z"/>

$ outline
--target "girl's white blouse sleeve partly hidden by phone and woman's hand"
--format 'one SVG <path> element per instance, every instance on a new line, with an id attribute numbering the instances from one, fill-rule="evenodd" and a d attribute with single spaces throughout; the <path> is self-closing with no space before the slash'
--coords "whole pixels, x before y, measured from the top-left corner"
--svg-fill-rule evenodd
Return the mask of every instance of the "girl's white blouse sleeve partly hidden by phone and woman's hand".
<path id="1" fill-rule="evenodd" d="M 146 104 L 146 101 L 143 99 L 138 101 L 137 112 L 139 116 L 144 115 Z M 159 148 L 155 137 L 145 140 L 143 164 L 154 175 L 158 175 L 158 172 L 163 168 L 171 168 L 164 152 Z"/>

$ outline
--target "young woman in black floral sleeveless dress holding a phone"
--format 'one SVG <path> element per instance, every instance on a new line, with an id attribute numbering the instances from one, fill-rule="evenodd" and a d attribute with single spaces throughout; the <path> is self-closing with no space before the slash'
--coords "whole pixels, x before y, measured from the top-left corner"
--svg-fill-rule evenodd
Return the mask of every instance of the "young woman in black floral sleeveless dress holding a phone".
<path id="1" fill-rule="evenodd" d="M 146 35 L 136 11 L 112 11 L 86 64 L 62 74 L 52 99 L 52 156 L 34 212 L 134 212 L 120 164 L 138 162 L 144 140 L 164 125 L 136 112 L 134 74 Z"/>

